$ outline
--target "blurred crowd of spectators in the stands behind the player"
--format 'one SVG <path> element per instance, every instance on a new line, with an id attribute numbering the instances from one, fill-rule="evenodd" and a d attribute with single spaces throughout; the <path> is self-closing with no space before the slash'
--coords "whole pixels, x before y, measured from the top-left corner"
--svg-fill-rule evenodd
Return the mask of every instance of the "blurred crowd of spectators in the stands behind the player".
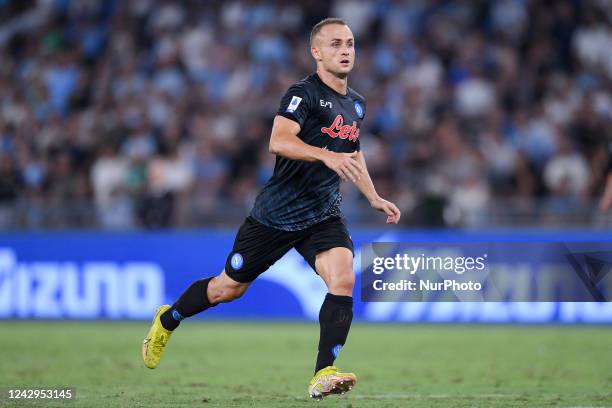
<path id="1" fill-rule="evenodd" d="M 0 0 L 0 228 L 237 222 L 328 16 L 355 35 L 362 148 L 406 225 L 592 223 L 610 1 Z"/>

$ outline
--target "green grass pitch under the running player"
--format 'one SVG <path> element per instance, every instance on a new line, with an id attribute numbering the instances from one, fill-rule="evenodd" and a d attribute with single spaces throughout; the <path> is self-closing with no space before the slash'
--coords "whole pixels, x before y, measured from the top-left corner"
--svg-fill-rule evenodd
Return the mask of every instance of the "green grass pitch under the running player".
<path id="1" fill-rule="evenodd" d="M 0 322 L 0 387 L 73 387 L 41 407 L 612 407 L 612 328 L 355 324 L 357 386 L 307 398 L 318 325 L 188 321 L 156 370 L 148 322 Z"/>

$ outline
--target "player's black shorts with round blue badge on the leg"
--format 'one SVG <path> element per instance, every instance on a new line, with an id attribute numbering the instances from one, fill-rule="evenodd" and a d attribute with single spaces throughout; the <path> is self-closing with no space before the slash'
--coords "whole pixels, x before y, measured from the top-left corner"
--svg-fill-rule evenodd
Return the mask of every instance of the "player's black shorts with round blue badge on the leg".
<path id="1" fill-rule="evenodd" d="M 252 282 L 291 248 L 316 272 L 317 254 L 336 247 L 348 248 L 355 254 L 346 222 L 341 217 L 328 218 L 300 231 L 279 230 L 247 217 L 225 261 L 225 273 L 237 282 Z"/>

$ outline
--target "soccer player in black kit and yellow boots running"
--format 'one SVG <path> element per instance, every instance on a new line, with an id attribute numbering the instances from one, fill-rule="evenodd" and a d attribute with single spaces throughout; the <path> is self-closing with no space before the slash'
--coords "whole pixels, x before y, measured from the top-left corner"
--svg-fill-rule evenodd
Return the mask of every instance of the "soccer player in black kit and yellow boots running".
<path id="1" fill-rule="evenodd" d="M 161 306 L 142 346 L 144 363 L 155 368 L 181 320 L 239 298 L 250 283 L 291 248 L 325 281 L 328 293 L 319 313 L 320 338 L 311 397 L 343 394 L 357 378 L 334 360 L 353 319 L 353 242 L 340 210 L 340 179 L 352 181 L 372 208 L 397 224 L 400 211 L 381 198 L 360 150 L 365 99 L 348 87 L 355 39 L 346 23 L 328 18 L 316 24 L 310 50 L 317 70 L 283 97 L 274 119 L 269 150 L 274 174 L 255 200 L 215 277 L 193 282 L 172 305 Z"/>

